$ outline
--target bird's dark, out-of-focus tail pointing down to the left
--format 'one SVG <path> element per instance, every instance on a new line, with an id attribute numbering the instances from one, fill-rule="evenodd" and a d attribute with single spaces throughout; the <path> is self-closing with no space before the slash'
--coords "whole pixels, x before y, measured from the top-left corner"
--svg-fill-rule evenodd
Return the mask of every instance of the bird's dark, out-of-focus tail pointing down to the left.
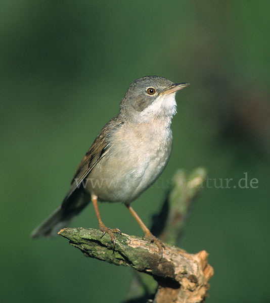
<path id="1" fill-rule="evenodd" d="M 33 230 L 31 237 L 56 236 L 59 230 L 67 227 L 73 217 L 80 213 L 88 203 L 89 197 L 86 197 L 81 192 L 74 192 L 46 220 Z"/>

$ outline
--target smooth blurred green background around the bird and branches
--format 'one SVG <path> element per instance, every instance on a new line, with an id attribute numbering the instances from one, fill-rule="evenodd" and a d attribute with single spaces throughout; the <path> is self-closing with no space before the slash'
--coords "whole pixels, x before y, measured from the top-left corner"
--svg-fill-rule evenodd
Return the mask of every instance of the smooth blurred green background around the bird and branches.
<path id="1" fill-rule="evenodd" d="M 207 302 L 269 302 L 268 1 L 1 1 L 3 302 L 120 302 L 132 272 L 30 232 L 60 203 L 130 82 L 189 82 L 177 94 L 171 159 L 133 207 L 150 225 L 176 168 L 248 173 L 258 188 L 214 188 L 193 207 L 182 247 L 206 249 Z M 224 184 L 223 184 L 224 186 Z M 210 188 L 212 187 L 212 188 Z M 107 226 L 142 235 L 120 204 Z M 72 223 L 98 227 L 90 205 Z M 83 294 L 82 294 L 83 293 Z"/>

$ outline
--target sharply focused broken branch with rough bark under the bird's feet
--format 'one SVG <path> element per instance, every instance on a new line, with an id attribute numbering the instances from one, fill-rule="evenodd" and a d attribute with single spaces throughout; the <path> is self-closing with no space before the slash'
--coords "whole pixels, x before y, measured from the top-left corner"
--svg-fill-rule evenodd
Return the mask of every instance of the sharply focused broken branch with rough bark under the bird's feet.
<path id="1" fill-rule="evenodd" d="M 102 232 L 96 229 L 64 228 L 59 234 L 86 257 L 129 266 L 153 276 L 159 285 L 156 303 L 203 302 L 207 296 L 213 269 L 204 250 L 188 254 L 183 249 L 166 246 L 161 259 L 156 244 L 140 237 L 115 234 L 113 250 L 110 236 L 101 238 Z"/>

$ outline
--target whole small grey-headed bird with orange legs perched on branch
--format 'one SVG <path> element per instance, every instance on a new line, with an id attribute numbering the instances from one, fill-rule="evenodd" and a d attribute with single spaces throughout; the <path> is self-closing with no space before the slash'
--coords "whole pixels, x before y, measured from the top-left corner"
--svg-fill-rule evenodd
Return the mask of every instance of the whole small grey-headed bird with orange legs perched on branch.
<path id="1" fill-rule="evenodd" d="M 160 76 L 133 81 L 120 103 L 118 114 L 100 131 L 78 165 L 62 204 L 32 232 L 32 238 L 57 235 L 92 201 L 99 229 L 114 233 L 101 220 L 98 201 L 120 202 L 130 211 L 159 251 L 164 243 L 155 237 L 131 207 L 163 172 L 172 149 L 172 117 L 175 94 L 189 83 L 173 83 Z"/>

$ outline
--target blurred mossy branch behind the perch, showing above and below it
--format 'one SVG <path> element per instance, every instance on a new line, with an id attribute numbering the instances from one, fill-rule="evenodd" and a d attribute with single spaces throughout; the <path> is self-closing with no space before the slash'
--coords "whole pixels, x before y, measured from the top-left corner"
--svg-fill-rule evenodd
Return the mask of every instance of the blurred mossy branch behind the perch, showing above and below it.
<path id="1" fill-rule="evenodd" d="M 202 167 L 189 173 L 177 169 L 173 175 L 162 207 L 152 218 L 151 232 L 164 243 L 180 246 L 187 218 L 206 175 Z M 145 303 L 154 298 L 157 288 L 158 283 L 150 275 L 133 271 L 127 298 L 122 303 Z"/>

